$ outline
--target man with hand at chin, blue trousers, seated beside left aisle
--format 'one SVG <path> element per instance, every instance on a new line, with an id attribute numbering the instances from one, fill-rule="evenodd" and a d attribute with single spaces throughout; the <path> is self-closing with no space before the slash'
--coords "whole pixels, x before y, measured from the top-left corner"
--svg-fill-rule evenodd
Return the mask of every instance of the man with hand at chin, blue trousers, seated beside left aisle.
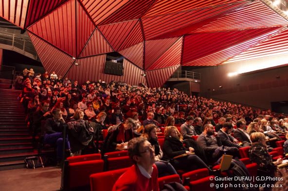
<path id="1" fill-rule="evenodd" d="M 52 146 L 57 147 L 57 160 L 58 162 L 61 161 L 63 158 L 62 152 L 63 152 L 63 135 L 62 135 L 62 129 L 63 124 L 65 124 L 65 121 L 62 117 L 62 112 L 60 109 L 55 108 L 52 110 L 52 118 L 47 119 L 45 126 L 44 126 L 44 144 L 50 144 Z M 70 150 L 70 143 L 68 141 L 68 137 L 65 139 L 66 143 L 66 155 L 68 157 L 73 156 L 71 150 Z"/>

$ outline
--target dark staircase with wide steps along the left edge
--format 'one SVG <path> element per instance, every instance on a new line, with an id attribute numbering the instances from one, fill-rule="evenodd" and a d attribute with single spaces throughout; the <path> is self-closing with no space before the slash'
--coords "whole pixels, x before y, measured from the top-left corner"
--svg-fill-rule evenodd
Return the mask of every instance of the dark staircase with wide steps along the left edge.
<path id="1" fill-rule="evenodd" d="M 25 123 L 21 91 L 0 89 L 0 170 L 24 167 L 24 159 L 37 155 Z"/>

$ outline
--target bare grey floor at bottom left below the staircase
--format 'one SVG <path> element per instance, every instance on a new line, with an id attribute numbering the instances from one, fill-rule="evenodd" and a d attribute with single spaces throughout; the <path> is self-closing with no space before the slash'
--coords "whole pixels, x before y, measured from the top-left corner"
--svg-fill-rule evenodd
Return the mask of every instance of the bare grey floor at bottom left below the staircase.
<path id="1" fill-rule="evenodd" d="M 60 168 L 0 171 L 0 191 L 58 191 L 60 184 Z"/>

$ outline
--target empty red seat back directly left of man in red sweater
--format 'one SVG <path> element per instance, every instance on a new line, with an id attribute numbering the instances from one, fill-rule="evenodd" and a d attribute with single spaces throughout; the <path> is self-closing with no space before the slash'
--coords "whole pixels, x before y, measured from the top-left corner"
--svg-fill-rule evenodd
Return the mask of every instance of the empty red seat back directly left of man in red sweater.
<path id="1" fill-rule="evenodd" d="M 117 179 L 126 172 L 128 168 L 96 173 L 90 175 L 91 191 L 112 191 Z"/>

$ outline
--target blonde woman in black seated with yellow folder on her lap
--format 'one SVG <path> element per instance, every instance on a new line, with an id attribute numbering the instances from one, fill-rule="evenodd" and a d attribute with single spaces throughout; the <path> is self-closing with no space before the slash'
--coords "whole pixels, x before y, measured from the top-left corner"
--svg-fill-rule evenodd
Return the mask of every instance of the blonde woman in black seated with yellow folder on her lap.
<path id="1" fill-rule="evenodd" d="M 163 144 L 163 159 L 170 159 L 171 164 L 176 169 L 181 170 L 196 170 L 209 167 L 197 155 L 194 155 L 194 148 L 186 149 L 182 142 L 177 137 L 176 127 L 168 126 L 164 132 L 165 140 Z M 177 159 L 174 157 L 183 155 Z M 210 169 L 209 169 L 210 170 Z M 211 171 L 211 170 L 210 170 Z"/>

